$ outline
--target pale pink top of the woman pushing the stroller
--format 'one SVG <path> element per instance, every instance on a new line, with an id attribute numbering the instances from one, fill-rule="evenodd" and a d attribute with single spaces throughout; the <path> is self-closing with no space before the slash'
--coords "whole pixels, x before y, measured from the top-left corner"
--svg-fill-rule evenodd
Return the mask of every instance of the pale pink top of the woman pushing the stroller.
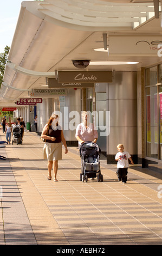
<path id="1" fill-rule="evenodd" d="M 94 141 L 95 138 L 98 138 L 98 131 L 94 124 L 89 124 L 89 127 L 86 129 L 86 126 L 81 123 L 76 127 L 75 137 L 79 136 L 82 141 Z M 79 142 L 79 144 L 81 144 Z"/>

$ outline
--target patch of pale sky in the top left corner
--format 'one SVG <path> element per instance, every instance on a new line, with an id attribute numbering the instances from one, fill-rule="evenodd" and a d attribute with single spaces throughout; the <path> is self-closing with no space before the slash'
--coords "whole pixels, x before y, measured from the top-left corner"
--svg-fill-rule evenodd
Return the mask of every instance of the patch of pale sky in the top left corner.
<path id="1" fill-rule="evenodd" d="M 23 0 L 1 0 L 0 53 L 4 52 L 5 46 L 11 46 L 22 2 Z"/>

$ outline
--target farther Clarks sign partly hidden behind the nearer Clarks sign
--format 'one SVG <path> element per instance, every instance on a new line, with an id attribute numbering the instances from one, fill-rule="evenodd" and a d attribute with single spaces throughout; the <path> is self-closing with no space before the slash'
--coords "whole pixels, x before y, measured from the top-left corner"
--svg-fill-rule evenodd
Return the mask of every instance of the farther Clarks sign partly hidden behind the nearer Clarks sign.
<path id="1" fill-rule="evenodd" d="M 55 78 L 48 78 L 49 88 L 89 88 L 94 87 L 94 83 L 80 83 L 80 82 L 68 82 L 68 83 L 58 83 Z"/>

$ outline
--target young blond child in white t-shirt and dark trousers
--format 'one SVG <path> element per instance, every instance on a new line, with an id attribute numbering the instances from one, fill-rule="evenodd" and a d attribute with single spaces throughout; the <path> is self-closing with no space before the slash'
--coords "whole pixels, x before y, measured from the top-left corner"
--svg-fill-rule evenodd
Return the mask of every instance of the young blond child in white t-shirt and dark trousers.
<path id="1" fill-rule="evenodd" d="M 118 161 L 117 163 L 117 172 L 116 174 L 118 175 L 118 181 L 121 181 L 123 183 L 127 182 L 127 173 L 128 173 L 128 167 L 129 167 L 129 162 L 128 159 L 131 161 L 132 164 L 132 157 L 129 155 L 127 151 L 124 151 L 124 145 L 119 144 L 117 146 L 118 153 L 115 156 L 115 160 Z"/>

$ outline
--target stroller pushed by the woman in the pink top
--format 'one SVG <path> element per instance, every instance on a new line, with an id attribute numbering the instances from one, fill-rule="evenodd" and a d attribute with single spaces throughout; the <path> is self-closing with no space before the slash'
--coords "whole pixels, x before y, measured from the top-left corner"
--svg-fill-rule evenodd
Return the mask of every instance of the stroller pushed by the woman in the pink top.
<path id="1" fill-rule="evenodd" d="M 100 153 L 101 150 L 94 142 L 84 142 L 80 148 L 81 173 L 80 181 L 86 182 L 88 178 L 98 178 L 103 181 L 103 175 L 100 170 Z"/>

